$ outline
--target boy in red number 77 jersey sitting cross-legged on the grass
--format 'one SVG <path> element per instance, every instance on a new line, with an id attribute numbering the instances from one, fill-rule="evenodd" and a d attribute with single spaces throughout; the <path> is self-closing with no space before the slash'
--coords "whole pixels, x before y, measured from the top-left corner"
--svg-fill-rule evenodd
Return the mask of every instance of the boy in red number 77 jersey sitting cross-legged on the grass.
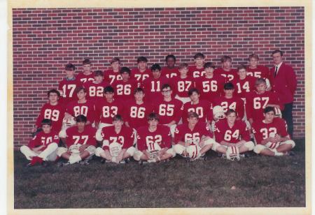
<path id="1" fill-rule="evenodd" d="M 76 126 L 66 129 L 66 148 L 58 147 L 57 155 L 68 160 L 67 164 L 78 163 L 86 159 L 83 164 L 87 165 L 88 159 L 95 153 L 96 129 L 92 126 L 85 126 L 87 119 L 84 115 L 76 117 Z M 59 163 L 59 165 L 65 165 Z"/>

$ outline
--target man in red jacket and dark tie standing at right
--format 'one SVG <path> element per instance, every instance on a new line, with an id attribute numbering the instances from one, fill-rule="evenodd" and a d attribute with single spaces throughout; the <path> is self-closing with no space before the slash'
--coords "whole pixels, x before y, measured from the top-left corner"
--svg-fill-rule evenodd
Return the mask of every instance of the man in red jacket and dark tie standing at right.
<path id="1" fill-rule="evenodd" d="M 274 60 L 274 67 L 272 67 L 270 71 L 272 74 L 272 90 L 279 94 L 280 103 L 284 106 L 282 117 L 288 124 L 288 133 L 292 138 L 293 97 L 297 87 L 297 80 L 293 68 L 283 63 L 282 56 L 283 52 L 281 50 L 274 50 L 274 52 L 272 52 L 272 59 Z"/>

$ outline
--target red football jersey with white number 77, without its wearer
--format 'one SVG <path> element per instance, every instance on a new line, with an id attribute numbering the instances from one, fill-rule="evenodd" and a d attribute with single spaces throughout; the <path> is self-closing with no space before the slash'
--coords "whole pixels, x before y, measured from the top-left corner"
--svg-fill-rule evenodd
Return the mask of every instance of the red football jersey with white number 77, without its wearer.
<path id="1" fill-rule="evenodd" d="M 97 142 L 95 139 L 96 129 L 92 126 L 85 126 L 82 133 L 78 132 L 77 126 L 72 126 L 66 129 L 66 146 L 71 147 L 73 144 L 89 144 L 96 147 Z"/>

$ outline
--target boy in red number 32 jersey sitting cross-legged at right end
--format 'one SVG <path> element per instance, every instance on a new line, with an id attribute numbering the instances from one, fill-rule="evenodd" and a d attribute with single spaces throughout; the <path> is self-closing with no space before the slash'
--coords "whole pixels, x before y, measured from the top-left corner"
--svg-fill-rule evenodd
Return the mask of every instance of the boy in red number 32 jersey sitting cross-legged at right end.
<path id="1" fill-rule="evenodd" d="M 290 155 L 290 150 L 295 147 L 295 142 L 290 140 L 286 131 L 286 121 L 274 117 L 274 107 L 266 107 L 262 121 L 253 122 L 255 136 L 255 153 L 267 156 Z"/>

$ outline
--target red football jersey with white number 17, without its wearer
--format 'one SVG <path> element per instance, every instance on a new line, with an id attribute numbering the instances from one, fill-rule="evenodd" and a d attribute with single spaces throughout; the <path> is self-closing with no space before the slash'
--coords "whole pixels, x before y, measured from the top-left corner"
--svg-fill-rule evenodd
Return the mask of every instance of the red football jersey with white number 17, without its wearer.
<path id="1" fill-rule="evenodd" d="M 58 91 L 60 93 L 60 100 L 64 105 L 67 105 L 71 101 L 77 101 L 76 88 L 82 87 L 82 82 L 78 79 L 74 80 L 62 80 L 59 82 Z"/>

